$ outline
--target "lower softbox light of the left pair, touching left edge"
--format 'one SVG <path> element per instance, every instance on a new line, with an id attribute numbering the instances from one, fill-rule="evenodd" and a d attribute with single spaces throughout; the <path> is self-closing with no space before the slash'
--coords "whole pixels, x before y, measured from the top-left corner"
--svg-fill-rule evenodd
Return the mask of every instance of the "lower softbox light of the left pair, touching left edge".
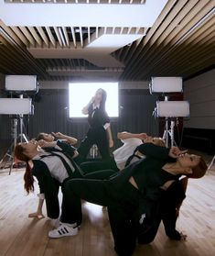
<path id="1" fill-rule="evenodd" d="M 31 114 L 31 99 L 0 98 L 0 115 L 29 115 L 29 114 Z"/>

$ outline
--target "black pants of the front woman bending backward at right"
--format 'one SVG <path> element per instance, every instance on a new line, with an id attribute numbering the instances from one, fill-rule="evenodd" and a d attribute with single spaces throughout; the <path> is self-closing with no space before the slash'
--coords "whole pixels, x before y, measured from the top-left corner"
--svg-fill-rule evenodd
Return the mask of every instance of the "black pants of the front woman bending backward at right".
<path id="1" fill-rule="evenodd" d="M 140 193 L 128 182 L 119 189 L 111 181 L 73 179 L 65 184 L 61 221 L 81 224 L 81 198 L 108 207 L 114 249 L 118 255 L 132 255 L 136 243 L 134 212 Z"/>

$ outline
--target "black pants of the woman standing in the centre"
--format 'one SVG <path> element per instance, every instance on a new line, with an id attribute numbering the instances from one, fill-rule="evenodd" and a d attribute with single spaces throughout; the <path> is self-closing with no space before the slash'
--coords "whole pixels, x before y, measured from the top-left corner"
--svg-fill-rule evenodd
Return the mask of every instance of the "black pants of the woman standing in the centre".
<path id="1" fill-rule="evenodd" d="M 81 141 L 78 151 L 84 159 L 87 158 L 88 152 L 91 150 L 93 144 L 97 145 L 103 160 L 110 159 L 107 132 L 103 127 L 90 128 L 86 137 Z"/>

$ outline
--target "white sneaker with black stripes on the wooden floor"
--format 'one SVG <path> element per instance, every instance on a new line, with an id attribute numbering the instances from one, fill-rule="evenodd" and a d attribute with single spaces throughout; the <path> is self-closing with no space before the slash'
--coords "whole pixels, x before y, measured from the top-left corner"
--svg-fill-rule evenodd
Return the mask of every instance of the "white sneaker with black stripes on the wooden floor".
<path id="1" fill-rule="evenodd" d="M 51 239 L 59 239 L 62 237 L 70 237 L 78 234 L 78 228 L 72 228 L 62 223 L 59 228 L 53 229 L 48 232 L 48 237 Z"/>

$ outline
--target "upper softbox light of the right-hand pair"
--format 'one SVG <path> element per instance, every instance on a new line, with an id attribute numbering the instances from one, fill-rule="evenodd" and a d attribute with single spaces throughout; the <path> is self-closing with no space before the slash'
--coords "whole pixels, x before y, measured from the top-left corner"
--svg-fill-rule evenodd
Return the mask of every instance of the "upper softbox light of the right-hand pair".
<path id="1" fill-rule="evenodd" d="M 181 93 L 182 77 L 152 77 L 150 93 Z"/>

